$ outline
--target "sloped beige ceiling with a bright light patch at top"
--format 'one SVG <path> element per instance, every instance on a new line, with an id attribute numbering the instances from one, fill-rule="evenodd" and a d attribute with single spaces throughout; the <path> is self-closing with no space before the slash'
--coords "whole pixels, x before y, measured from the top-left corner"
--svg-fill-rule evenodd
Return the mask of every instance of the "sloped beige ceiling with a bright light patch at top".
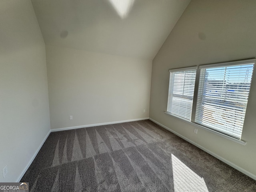
<path id="1" fill-rule="evenodd" d="M 31 0 L 46 45 L 153 59 L 190 0 Z"/>

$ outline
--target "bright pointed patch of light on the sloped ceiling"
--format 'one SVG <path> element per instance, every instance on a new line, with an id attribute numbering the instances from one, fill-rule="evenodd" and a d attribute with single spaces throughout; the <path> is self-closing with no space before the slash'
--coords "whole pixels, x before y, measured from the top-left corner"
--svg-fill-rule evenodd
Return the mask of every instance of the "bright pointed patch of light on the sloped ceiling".
<path id="1" fill-rule="evenodd" d="M 109 0 L 118 15 L 124 19 L 128 16 L 134 0 Z"/>

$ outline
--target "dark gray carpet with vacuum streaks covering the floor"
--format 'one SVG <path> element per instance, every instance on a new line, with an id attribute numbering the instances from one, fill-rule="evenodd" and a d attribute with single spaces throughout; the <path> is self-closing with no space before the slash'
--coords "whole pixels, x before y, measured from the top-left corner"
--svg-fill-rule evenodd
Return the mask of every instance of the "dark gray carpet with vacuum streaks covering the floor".
<path id="1" fill-rule="evenodd" d="M 52 132 L 30 192 L 252 192 L 256 181 L 150 120 Z"/>

